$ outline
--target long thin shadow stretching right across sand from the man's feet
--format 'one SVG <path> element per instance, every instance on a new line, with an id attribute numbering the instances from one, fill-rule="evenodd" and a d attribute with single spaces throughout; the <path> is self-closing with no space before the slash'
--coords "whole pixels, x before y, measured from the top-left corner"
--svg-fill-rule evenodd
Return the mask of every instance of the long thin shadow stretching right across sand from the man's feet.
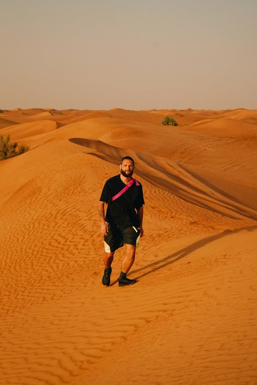
<path id="1" fill-rule="evenodd" d="M 181 258 L 188 256 L 190 253 L 193 253 L 197 249 L 204 247 L 208 243 L 216 241 L 217 239 L 221 239 L 223 237 L 226 237 L 227 235 L 240 233 L 243 230 L 251 231 L 251 230 L 254 230 L 256 228 L 257 228 L 257 226 L 247 226 L 247 227 L 239 228 L 239 229 L 234 230 L 234 231 L 225 230 L 222 233 L 212 235 L 212 236 L 204 238 L 204 239 L 200 239 L 199 241 L 196 241 L 196 242 L 192 243 L 191 245 L 178 250 L 177 252 L 169 255 L 168 257 L 162 258 L 156 262 L 152 262 L 152 263 L 150 263 L 144 267 L 140 267 L 136 270 L 131 271 L 131 274 L 139 273 L 139 275 L 135 277 L 135 279 L 138 280 L 142 277 L 145 277 L 148 274 L 153 274 L 156 271 L 158 271 L 159 269 L 167 267 L 167 266 L 171 265 L 172 263 L 179 261 Z"/>

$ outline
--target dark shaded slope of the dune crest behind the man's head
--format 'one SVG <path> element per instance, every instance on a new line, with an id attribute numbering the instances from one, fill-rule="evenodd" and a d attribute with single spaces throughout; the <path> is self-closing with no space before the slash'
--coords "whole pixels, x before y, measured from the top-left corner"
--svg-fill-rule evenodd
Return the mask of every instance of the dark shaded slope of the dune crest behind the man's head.
<path id="1" fill-rule="evenodd" d="M 257 220 L 257 211 L 246 208 L 233 201 L 232 198 L 228 199 L 218 191 L 204 185 L 178 163 L 160 157 L 138 155 L 133 150 L 114 147 L 99 140 L 72 138 L 70 142 L 93 148 L 96 152 L 91 155 L 115 164 L 119 164 L 119 160 L 126 152 L 136 161 L 137 174 L 151 184 L 199 207 L 217 211 L 219 214 L 234 219 L 249 217 Z"/>

